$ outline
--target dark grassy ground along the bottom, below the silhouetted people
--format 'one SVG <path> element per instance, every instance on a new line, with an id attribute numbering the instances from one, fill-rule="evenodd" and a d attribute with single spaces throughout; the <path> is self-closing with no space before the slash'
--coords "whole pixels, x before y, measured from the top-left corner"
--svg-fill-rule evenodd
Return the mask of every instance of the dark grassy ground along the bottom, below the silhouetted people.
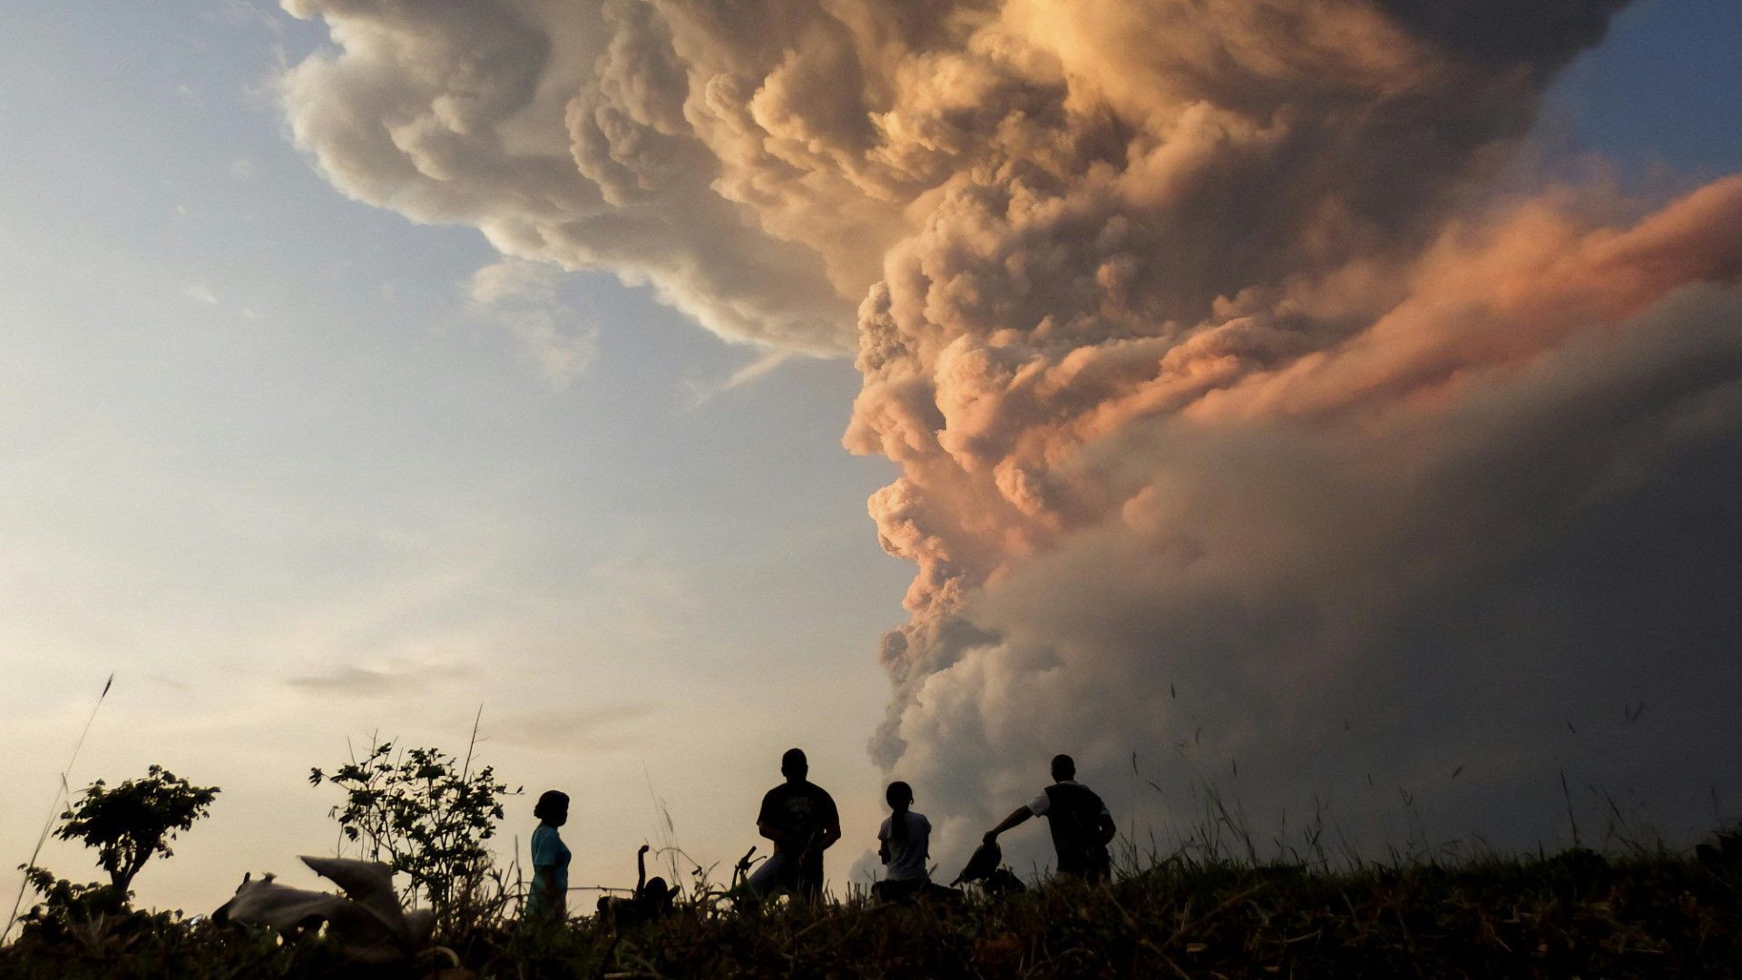
<path id="1" fill-rule="evenodd" d="M 1730 977 L 1742 875 L 1664 851 L 1359 865 L 1179 851 L 956 907 L 679 907 L 620 935 L 474 922 L 404 977 Z M 458 968 L 455 966 L 458 961 Z M 446 971 L 446 973 L 442 973 Z M 26 929 L 0 977 L 381 977 L 321 938 L 122 915 Z"/>

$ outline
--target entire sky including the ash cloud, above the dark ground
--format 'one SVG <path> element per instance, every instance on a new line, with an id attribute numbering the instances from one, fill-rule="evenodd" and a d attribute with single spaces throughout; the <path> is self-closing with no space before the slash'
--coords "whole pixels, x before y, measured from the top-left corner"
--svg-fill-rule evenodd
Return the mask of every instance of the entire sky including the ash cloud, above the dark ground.
<path id="1" fill-rule="evenodd" d="M 1556 840 L 1556 769 L 1742 807 L 1733 3 L 1327 3 L 1331 59 L 287 7 L 0 12 L 14 863 L 110 671 L 68 781 L 223 788 L 136 882 L 188 910 L 331 851 L 308 767 L 479 708 L 575 884 L 728 863 L 791 745 L 836 882 L 887 774 L 960 860 L 1057 750 L 1164 837 L 1198 779 L 1376 840 Z"/>

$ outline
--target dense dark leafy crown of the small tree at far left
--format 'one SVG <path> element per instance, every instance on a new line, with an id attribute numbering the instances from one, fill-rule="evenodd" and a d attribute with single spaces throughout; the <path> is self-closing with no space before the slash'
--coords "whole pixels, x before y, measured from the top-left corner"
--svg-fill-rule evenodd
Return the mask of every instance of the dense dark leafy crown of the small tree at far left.
<path id="1" fill-rule="evenodd" d="M 211 811 L 218 786 L 195 786 L 162 766 L 143 779 L 108 788 L 103 779 L 85 788 L 78 806 L 61 814 L 61 840 L 96 847 L 98 867 L 115 891 L 125 895 L 152 854 L 169 858 L 169 842 Z"/>

